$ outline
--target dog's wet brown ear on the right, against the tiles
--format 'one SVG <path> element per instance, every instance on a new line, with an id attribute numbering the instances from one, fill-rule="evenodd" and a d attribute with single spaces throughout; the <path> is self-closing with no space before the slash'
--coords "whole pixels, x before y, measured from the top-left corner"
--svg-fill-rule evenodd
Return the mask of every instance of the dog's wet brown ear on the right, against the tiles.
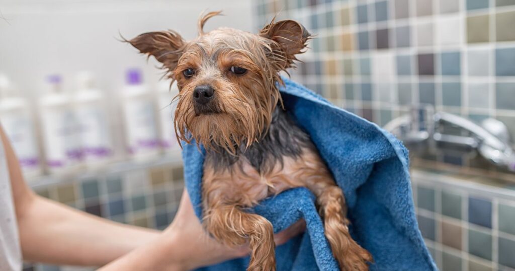
<path id="1" fill-rule="evenodd" d="M 303 53 L 306 42 L 311 38 L 306 28 L 293 20 L 272 21 L 261 29 L 259 35 L 277 43 L 278 48 L 272 47 L 272 50 L 281 51 L 280 55 L 286 58 L 285 68 L 291 67 L 293 61 L 297 60 L 295 55 Z"/>

